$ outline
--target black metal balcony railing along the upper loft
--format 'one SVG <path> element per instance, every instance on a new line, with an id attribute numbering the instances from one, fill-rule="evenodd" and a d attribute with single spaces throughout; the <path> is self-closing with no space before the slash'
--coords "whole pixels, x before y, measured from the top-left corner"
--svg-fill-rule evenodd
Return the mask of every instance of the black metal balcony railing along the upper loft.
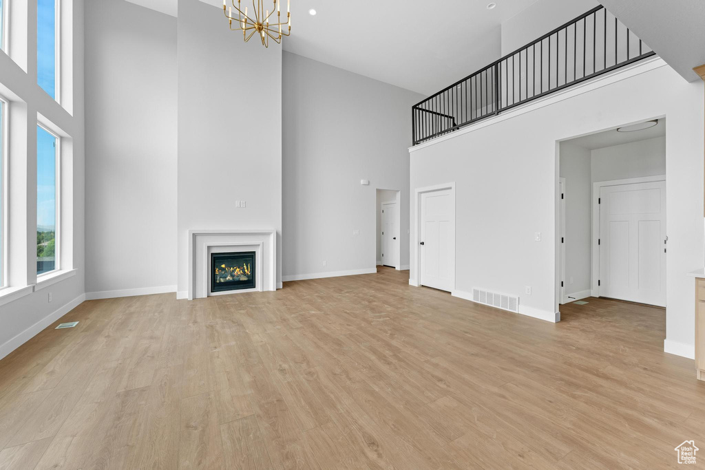
<path id="1" fill-rule="evenodd" d="M 413 106 L 414 145 L 654 54 L 598 6 Z"/>

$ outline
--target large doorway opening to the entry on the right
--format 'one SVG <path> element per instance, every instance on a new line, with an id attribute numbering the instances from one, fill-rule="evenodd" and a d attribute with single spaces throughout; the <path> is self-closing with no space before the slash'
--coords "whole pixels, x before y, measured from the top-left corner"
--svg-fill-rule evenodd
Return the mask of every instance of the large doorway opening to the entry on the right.
<path id="1" fill-rule="evenodd" d="M 645 122 L 559 144 L 559 309 L 588 297 L 666 307 L 666 118 Z"/>

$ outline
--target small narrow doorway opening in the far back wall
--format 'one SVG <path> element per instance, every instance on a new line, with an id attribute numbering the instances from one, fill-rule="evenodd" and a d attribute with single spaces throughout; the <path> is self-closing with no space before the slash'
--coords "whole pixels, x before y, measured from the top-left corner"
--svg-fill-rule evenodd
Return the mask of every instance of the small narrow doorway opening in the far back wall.
<path id="1" fill-rule="evenodd" d="M 377 266 L 401 269 L 401 192 L 377 190 Z"/>

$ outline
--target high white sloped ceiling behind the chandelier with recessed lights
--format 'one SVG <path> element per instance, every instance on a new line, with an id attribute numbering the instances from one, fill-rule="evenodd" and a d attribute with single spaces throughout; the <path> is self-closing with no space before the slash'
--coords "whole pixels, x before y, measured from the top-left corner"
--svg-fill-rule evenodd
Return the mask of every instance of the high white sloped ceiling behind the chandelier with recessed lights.
<path id="1" fill-rule="evenodd" d="M 176 16 L 177 0 L 128 1 Z M 429 95 L 498 59 L 501 24 L 537 0 L 290 1 L 285 51 Z"/>

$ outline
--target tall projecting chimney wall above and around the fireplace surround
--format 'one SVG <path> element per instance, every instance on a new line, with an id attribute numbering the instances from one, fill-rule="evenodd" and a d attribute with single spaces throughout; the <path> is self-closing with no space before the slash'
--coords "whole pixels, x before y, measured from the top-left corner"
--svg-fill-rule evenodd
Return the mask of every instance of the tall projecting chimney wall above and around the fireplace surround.
<path id="1" fill-rule="evenodd" d="M 189 229 L 273 228 L 281 253 L 282 59 L 281 47 L 245 44 L 218 7 L 180 0 L 178 8 L 177 252 L 185 297 Z M 246 207 L 236 209 L 235 200 Z M 277 264 L 281 281 L 281 255 Z"/>

